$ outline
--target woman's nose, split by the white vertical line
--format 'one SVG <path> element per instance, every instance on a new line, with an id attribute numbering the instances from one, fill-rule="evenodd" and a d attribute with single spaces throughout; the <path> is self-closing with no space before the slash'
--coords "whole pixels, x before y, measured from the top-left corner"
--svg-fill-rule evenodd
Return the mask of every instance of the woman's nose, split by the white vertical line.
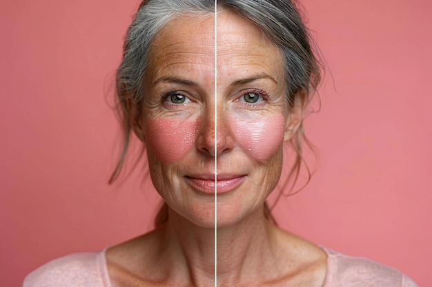
<path id="1" fill-rule="evenodd" d="M 234 141 L 224 111 L 208 110 L 201 118 L 197 149 L 209 156 L 220 156 L 233 149 Z"/>

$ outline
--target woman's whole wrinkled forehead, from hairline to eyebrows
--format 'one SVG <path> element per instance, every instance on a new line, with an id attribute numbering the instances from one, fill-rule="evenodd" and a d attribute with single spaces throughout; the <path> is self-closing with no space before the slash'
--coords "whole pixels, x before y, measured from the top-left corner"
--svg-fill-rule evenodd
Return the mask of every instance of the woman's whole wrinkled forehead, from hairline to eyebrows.
<path id="1" fill-rule="evenodd" d="M 217 14 L 216 20 L 214 14 L 207 14 L 180 16 L 168 22 L 151 45 L 153 76 L 195 73 L 201 79 L 214 78 L 215 56 L 218 78 L 233 73 L 241 77 L 254 71 L 282 72 L 279 50 L 255 24 L 229 11 Z"/>

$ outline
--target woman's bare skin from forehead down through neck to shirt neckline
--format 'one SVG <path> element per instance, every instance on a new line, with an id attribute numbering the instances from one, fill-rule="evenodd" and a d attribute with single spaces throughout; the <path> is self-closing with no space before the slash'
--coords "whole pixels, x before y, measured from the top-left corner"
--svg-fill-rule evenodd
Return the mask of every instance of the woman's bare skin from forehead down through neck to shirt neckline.
<path id="1" fill-rule="evenodd" d="M 277 47 L 233 12 L 217 15 L 215 77 L 214 25 L 177 17 L 153 41 L 135 133 L 169 220 L 108 249 L 112 286 L 215 286 L 215 208 L 217 286 L 322 286 L 324 251 L 264 217 L 301 103 L 288 108 Z"/>

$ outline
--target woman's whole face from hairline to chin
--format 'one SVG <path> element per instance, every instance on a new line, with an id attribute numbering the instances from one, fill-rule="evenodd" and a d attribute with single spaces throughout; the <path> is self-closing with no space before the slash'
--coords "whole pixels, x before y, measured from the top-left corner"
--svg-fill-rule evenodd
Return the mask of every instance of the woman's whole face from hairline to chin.
<path id="1" fill-rule="evenodd" d="M 277 47 L 232 12 L 218 14 L 215 34 L 210 16 L 178 17 L 159 31 L 136 129 L 162 198 L 208 227 L 216 190 L 218 226 L 262 208 L 291 136 Z"/>

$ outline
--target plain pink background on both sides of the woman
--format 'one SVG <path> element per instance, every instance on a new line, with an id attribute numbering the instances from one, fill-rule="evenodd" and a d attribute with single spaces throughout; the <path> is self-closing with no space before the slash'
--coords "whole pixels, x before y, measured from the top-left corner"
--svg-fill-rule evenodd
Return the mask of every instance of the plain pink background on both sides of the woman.
<path id="1" fill-rule="evenodd" d="M 105 102 L 138 1 L 0 2 L 0 280 L 147 231 L 142 169 L 106 182 L 119 128 Z M 305 0 L 328 72 L 306 122 L 320 151 L 282 226 L 431 286 L 432 2 Z M 146 180 L 144 180 L 144 184 Z"/>

